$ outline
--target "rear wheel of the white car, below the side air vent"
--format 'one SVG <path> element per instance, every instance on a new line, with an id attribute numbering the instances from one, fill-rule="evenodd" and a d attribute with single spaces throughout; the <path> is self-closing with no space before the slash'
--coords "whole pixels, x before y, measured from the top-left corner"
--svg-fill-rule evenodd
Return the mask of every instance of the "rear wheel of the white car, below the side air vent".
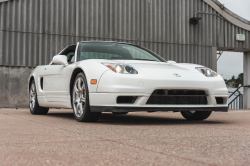
<path id="1" fill-rule="evenodd" d="M 35 81 L 32 81 L 30 86 L 29 103 L 30 112 L 33 115 L 46 115 L 49 111 L 49 108 L 40 107 L 38 104 Z"/>

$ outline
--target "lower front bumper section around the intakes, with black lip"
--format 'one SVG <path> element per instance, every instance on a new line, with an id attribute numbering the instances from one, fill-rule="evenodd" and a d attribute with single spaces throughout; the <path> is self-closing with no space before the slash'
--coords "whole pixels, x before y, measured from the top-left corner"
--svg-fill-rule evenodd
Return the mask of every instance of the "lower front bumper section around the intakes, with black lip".
<path id="1" fill-rule="evenodd" d="M 138 96 L 133 104 L 117 104 L 118 96 Z M 90 93 L 92 112 L 140 112 L 140 111 L 228 111 L 228 102 L 217 104 L 215 97 L 228 99 L 227 95 L 207 96 L 207 105 L 151 105 L 146 104 L 150 95 L 143 93 Z"/>

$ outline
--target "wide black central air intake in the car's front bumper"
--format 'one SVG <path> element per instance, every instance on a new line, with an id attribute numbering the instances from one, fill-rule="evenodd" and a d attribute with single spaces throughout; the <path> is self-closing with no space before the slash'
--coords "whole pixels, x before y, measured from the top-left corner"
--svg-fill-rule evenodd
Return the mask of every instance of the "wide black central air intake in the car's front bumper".
<path id="1" fill-rule="evenodd" d="M 207 105 L 204 91 L 193 90 L 155 90 L 147 104 L 162 105 Z"/>

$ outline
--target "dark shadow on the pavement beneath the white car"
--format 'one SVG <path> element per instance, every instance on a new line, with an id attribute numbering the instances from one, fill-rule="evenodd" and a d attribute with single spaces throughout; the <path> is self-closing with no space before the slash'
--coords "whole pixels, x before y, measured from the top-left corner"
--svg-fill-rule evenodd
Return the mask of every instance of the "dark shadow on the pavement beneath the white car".
<path id="1" fill-rule="evenodd" d="M 75 120 L 73 113 L 49 113 L 47 116 L 53 118 L 63 118 L 67 120 Z M 135 114 L 113 115 L 111 113 L 103 113 L 100 119 L 93 124 L 109 124 L 109 125 L 192 125 L 192 124 L 227 124 L 228 121 L 187 121 L 184 118 L 170 118 L 157 116 L 143 116 Z"/>

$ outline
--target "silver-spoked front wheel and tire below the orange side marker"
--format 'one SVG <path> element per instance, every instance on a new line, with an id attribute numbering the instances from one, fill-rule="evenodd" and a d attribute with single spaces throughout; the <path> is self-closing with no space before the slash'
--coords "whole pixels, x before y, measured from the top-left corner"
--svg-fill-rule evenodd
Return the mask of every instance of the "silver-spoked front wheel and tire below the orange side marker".
<path id="1" fill-rule="evenodd" d="M 76 76 L 71 88 L 71 102 L 75 119 L 78 122 L 96 122 L 100 118 L 101 112 L 91 112 L 90 110 L 88 84 L 83 73 Z"/>

